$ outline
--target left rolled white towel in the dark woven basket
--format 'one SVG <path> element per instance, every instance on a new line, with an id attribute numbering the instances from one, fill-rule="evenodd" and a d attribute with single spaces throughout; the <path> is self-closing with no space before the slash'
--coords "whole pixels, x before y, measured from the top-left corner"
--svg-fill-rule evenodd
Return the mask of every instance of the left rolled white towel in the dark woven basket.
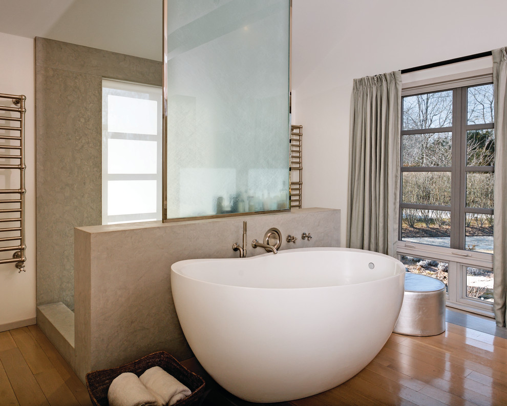
<path id="1" fill-rule="evenodd" d="M 113 379 L 108 400 L 109 406 L 162 406 L 161 400 L 132 372 L 124 372 Z"/>

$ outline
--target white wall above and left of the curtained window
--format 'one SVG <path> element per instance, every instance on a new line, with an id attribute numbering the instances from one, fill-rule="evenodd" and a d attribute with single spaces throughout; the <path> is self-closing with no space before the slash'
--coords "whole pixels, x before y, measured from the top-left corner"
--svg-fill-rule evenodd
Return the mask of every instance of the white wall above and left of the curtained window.
<path id="1" fill-rule="evenodd" d="M 507 46 L 506 12 L 505 0 L 292 0 L 292 124 L 303 125 L 303 207 L 342 209 L 342 246 L 353 79 Z"/>

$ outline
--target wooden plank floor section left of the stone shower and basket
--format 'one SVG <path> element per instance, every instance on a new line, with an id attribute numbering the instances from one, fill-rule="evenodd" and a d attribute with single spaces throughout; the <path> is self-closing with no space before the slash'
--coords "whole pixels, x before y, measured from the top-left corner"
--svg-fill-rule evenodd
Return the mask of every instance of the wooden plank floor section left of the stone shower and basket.
<path id="1" fill-rule="evenodd" d="M 0 406 L 91 406 L 85 385 L 37 326 L 0 333 Z"/>

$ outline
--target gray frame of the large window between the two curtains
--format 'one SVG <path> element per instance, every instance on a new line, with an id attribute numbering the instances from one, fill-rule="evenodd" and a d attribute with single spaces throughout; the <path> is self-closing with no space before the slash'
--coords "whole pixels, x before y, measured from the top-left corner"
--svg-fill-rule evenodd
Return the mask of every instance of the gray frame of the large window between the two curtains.
<path id="1" fill-rule="evenodd" d="M 397 258 L 402 255 L 420 257 L 449 263 L 448 267 L 448 292 L 446 293 L 447 306 L 466 310 L 493 317 L 493 303 L 467 296 L 467 267 L 480 268 L 484 270 L 493 269 L 493 254 L 466 250 L 465 220 L 467 213 L 493 214 L 493 209 L 469 208 L 466 207 L 466 181 L 468 172 L 493 172 L 494 167 L 467 166 L 467 131 L 494 129 L 494 124 L 469 125 L 467 123 L 467 92 L 469 87 L 487 85 L 493 83 L 491 73 L 480 74 L 471 77 L 458 78 L 454 80 L 435 79 L 434 83 L 423 85 L 404 86 L 403 98 L 418 94 L 434 93 L 439 91 L 453 91 L 453 121 L 451 127 L 439 127 L 431 129 L 403 130 L 403 108 L 402 124 L 400 126 L 400 193 L 398 204 L 398 241 Z M 459 99 L 458 99 L 459 98 Z M 456 120 L 458 105 L 460 106 L 460 120 Z M 446 131 L 447 130 L 447 131 Z M 440 132 L 452 132 L 451 167 L 403 167 L 403 135 L 429 134 Z M 458 156 L 459 159 L 455 159 Z M 403 203 L 402 179 L 406 172 L 451 172 L 451 203 L 450 206 L 407 204 Z M 453 190 L 459 193 L 453 193 Z M 402 240 L 402 209 L 429 209 L 447 210 L 451 216 L 450 246 L 440 247 Z M 457 248 L 459 247 L 459 248 Z M 463 249 L 461 249 L 461 247 Z"/>

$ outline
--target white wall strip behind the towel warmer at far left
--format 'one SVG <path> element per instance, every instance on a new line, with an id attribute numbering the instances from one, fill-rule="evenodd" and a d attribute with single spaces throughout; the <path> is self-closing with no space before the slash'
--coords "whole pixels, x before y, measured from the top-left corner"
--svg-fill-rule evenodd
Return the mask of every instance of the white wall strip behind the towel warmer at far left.
<path id="1" fill-rule="evenodd" d="M 26 272 L 0 265 L 0 331 L 35 322 L 35 142 L 33 39 L 0 33 L 0 93 L 26 100 Z M 1 171 L 1 170 L 0 170 Z M 0 177 L 0 179 L 2 179 Z M 3 179 L 2 179 L 3 181 Z M 0 188 L 4 185 L 0 182 Z M 3 253 L 7 258 L 12 253 Z"/>

